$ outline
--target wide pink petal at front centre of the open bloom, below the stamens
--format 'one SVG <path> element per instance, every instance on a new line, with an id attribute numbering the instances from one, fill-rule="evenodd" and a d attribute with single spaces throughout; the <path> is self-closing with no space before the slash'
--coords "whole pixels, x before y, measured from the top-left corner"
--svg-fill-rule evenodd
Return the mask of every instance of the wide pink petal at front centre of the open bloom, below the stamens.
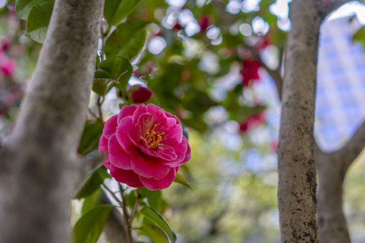
<path id="1" fill-rule="evenodd" d="M 169 173 L 170 166 L 156 163 L 157 158 L 147 156 L 136 149 L 131 154 L 132 170 L 146 178 L 161 179 Z"/>

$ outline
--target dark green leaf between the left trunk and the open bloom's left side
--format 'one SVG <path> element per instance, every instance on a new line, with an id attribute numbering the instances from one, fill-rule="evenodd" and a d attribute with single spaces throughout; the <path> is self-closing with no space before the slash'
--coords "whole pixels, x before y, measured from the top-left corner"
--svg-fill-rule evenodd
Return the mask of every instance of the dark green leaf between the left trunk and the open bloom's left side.
<path id="1" fill-rule="evenodd" d="M 79 153 L 84 155 L 90 150 L 98 147 L 102 134 L 103 127 L 99 122 L 86 121 L 84 133 L 82 134 L 79 146 Z"/>

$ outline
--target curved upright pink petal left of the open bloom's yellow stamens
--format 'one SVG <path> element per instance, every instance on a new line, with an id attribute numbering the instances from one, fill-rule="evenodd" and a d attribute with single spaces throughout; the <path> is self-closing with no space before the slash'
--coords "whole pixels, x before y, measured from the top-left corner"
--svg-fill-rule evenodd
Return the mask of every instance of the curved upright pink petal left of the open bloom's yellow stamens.
<path id="1" fill-rule="evenodd" d="M 133 118 L 131 116 L 127 116 L 122 118 L 117 127 L 116 137 L 119 144 L 124 148 L 124 150 L 130 154 L 130 152 L 134 149 L 134 145 L 130 141 L 128 137 L 128 132 L 133 130 Z"/>

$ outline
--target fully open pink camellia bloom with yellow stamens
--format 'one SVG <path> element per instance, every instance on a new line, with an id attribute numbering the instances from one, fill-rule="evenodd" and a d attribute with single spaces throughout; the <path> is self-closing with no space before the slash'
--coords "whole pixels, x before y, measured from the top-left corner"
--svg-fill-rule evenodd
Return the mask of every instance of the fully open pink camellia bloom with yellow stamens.
<path id="1" fill-rule="evenodd" d="M 128 105 L 106 123 L 99 153 L 118 182 L 149 190 L 168 188 L 191 158 L 179 119 L 154 105 Z"/>

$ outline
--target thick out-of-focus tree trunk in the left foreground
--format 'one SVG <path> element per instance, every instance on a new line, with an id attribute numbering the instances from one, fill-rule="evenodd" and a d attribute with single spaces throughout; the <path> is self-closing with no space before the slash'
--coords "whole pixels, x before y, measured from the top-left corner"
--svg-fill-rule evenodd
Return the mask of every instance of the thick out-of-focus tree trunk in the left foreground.
<path id="1" fill-rule="evenodd" d="M 56 0 L 11 138 L 1 148 L 0 242 L 69 241 L 76 150 L 95 70 L 103 0 Z"/>

